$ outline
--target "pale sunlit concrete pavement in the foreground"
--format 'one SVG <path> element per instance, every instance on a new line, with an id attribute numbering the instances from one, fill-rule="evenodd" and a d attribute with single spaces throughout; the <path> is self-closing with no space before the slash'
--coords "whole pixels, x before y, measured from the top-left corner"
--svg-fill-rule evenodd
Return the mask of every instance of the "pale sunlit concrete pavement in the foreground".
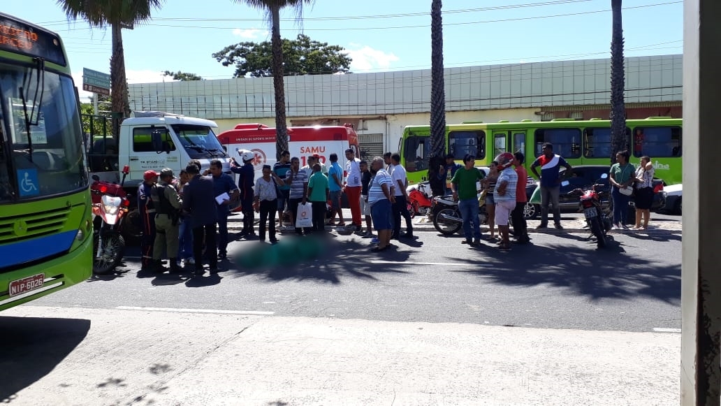
<path id="1" fill-rule="evenodd" d="M 15 392 L 1 394 L 13 405 L 679 402 L 675 333 L 202 312 L 9 309 L 2 318 L 16 329 L 53 317 L 58 331 L 52 345 L 37 339 L 19 349 L 27 353 L 4 389 Z M 38 361 L 63 344 L 57 361 Z"/>

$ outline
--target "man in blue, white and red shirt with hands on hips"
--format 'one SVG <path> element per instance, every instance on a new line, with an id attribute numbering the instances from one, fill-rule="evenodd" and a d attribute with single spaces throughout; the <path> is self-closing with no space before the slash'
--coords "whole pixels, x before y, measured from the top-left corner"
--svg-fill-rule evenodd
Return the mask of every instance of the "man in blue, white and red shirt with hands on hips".
<path id="1" fill-rule="evenodd" d="M 541 156 L 536 158 L 531 164 L 531 172 L 541 180 L 541 224 L 536 229 L 545 229 L 548 226 L 548 206 L 551 203 L 553 207 L 553 222 L 557 229 L 563 229 L 561 226 L 561 209 L 558 206 L 558 195 L 561 188 L 561 179 L 559 177 L 561 167 L 566 168 L 565 175 L 571 175 L 571 166 L 563 159 L 562 156 L 553 153 L 553 145 L 549 142 L 541 147 Z M 536 167 L 541 167 L 541 174 Z"/>

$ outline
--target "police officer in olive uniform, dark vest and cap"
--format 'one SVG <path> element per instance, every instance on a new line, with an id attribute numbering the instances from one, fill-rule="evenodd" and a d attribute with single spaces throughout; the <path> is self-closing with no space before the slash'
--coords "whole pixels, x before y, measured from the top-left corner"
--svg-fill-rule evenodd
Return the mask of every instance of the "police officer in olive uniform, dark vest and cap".
<path id="1" fill-rule="evenodd" d="M 163 250 L 167 250 L 171 272 L 180 272 L 177 264 L 180 234 L 180 208 L 182 200 L 172 185 L 174 176 L 170 168 L 160 171 L 160 182 L 153 187 L 152 200 L 155 205 L 155 244 L 153 262 L 156 272 L 167 270 L 162 265 Z"/>

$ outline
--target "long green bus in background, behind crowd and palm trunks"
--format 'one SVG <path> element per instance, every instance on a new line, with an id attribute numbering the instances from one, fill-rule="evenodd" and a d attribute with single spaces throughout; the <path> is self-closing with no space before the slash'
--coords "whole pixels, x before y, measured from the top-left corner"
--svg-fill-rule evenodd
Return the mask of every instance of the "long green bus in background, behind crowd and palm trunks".
<path id="1" fill-rule="evenodd" d="M 681 119 L 650 117 L 626 120 L 627 147 L 631 162 L 638 164 L 641 156 L 649 156 L 655 176 L 667 185 L 681 183 Z M 521 120 L 510 123 L 464 122 L 446 125 L 446 154 L 454 154 L 462 162 L 466 154 L 476 156 L 477 166 L 488 166 L 502 152 L 521 151 L 526 155 L 526 168 L 541 154 L 541 146 L 553 144 L 556 154 L 572 166 L 609 164 L 611 159 L 611 121 L 554 119 L 550 121 Z M 430 126 L 408 125 L 399 142 L 401 163 L 408 181 L 422 182 L 428 177 Z M 531 174 L 528 171 L 529 175 Z"/>

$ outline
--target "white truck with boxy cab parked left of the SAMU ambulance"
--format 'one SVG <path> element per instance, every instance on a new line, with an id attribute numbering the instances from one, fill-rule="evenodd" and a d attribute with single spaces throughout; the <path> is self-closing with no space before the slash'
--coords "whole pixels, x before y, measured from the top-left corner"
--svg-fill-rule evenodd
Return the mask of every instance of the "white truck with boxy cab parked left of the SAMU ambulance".
<path id="1" fill-rule="evenodd" d="M 200 172 L 210 167 L 213 159 L 223 162 L 224 172 L 230 172 L 230 156 L 216 137 L 218 125 L 203 118 L 191 118 L 167 112 L 133 112 L 120 125 L 118 141 L 109 134 L 92 136 L 88 141 L 91 175 L 101 180 L 120 183 L 122 169 L 128 165 L 123 188 L 132 195 L 128 226 L 140 225 L 137 205 L 138 186 L 143 173 L 173 169 L 176 176 L 191 159 L 198 159 Z M 125 237 L 135 237 L 139 230 L 125 230 Z"/>

